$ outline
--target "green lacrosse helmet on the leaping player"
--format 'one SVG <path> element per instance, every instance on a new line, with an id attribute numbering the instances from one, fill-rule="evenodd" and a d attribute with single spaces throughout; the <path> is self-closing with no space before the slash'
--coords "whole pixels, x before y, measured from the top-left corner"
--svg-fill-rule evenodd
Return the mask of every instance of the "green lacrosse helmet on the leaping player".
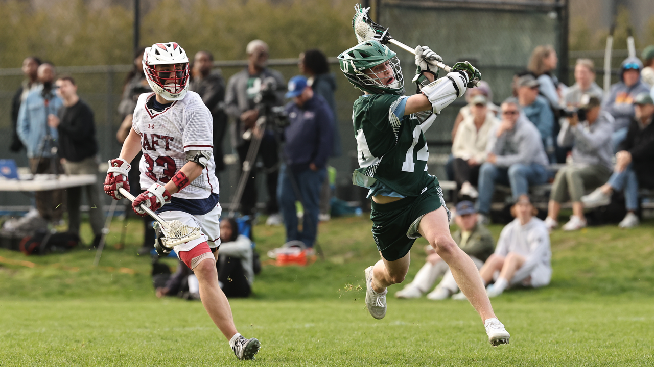
<path id="1" fill-rule="evenodd" d="M 390 61 L 394 78 L 389 84 L 383 84 L 377 74 L 366 74 L 364 72 L 386 61 Z M 390 48 L 377 42 L 377 40 L 364 40 L 364 42 L 346 50 L 338 56 L 338 63 L 341 71 L 354 88 L 372 94 L 404 94 L 404 78 L 402 77 L 400 60 L 395 52 L 392 52 Z"/>

